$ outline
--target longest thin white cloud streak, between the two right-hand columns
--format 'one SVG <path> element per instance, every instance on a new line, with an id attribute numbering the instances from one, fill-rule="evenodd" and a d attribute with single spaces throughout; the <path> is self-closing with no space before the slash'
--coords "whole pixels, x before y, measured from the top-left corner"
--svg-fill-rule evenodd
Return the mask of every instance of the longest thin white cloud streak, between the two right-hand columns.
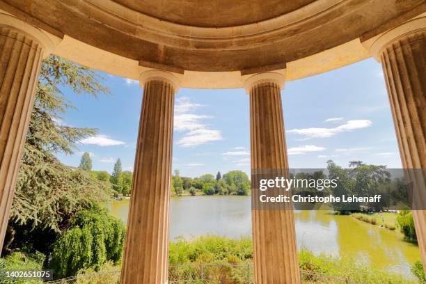
<path id="1" fill-rule="evenodd" d="M 302 128 L 287 130 L 288 133 L 295 133 L 306 136 L 306 138 L 326 138 L 334 136 L 340 132 L 349 132 L 355 129 L 370 127 L 370 120 L 348 120 L 346 123 L 332 128 Z"/>

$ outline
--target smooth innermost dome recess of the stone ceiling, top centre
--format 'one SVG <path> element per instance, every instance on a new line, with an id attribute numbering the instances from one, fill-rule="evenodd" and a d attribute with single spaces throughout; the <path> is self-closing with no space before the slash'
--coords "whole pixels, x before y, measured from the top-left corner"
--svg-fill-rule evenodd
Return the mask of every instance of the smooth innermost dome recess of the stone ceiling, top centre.
<path id="1" fill-rule="evenodd" d="M 315 0 L 116 0 L 157 19 L 200 27 L 241 26 L 285 15 Z"/>

